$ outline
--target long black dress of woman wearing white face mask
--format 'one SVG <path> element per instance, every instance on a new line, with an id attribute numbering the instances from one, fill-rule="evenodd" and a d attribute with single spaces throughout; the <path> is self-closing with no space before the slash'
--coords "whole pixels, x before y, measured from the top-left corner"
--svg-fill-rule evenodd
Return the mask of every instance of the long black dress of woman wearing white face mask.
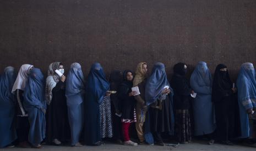
<path id="1" fill-rule="evenodd" d="M 47 107 L 47 142 L 53 139 L 61 142 L 70 140 L 65 83 L 59 80 L 52 89 L 52 101 Z"/>

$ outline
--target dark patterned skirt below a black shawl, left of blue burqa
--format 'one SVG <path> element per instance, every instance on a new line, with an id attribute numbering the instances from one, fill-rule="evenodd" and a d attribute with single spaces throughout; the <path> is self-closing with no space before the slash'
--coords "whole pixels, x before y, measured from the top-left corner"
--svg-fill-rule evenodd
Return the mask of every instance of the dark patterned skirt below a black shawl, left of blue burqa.
<path id="1" fill-rule="evenodd" d="M 192 140 L 191 124 L 188 109 L 176 110 L 175 133 L 178 142 L 189 142 Z"/>

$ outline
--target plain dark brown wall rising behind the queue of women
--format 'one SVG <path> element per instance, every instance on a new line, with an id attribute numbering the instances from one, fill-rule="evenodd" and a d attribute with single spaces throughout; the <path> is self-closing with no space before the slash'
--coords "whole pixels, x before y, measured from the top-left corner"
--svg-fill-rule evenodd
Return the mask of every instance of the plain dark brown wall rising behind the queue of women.
<path id="1" fill-rule="evenodd" d="M 212 73 L 226 63 L 236 78 L 243 62 L 256 63 L 256 1 L 0 1 L 0 51 L 1 71 L 76 61 L 88 74 L 99 61 L 109 73 L 161 61 L 170 76 L 176 62 L 192 71 L 206 61 Z"/>

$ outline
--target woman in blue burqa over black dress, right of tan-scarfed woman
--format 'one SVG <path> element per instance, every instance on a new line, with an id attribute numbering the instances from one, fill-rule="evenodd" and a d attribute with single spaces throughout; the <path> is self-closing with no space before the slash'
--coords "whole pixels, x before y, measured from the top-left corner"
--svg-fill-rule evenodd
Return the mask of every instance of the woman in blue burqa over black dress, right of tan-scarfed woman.
<path id="1" fill-rule="evenodd" d="M 173 114 L 172 88 L 167 80 L 165 65 L 157 62 L 146 82 L 145 100 L 149 106 L 150 130 L 155 144 L 164 146 L 161 134 L 173 135 L 175 119 Z"/>

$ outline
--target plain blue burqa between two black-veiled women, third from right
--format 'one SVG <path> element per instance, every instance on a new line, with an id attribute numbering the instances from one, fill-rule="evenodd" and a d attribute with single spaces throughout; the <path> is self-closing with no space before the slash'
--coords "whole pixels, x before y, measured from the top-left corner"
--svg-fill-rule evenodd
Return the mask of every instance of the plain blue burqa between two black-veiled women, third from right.
<path id="1" fill-rule="evenodd" d="M 194 114 L 194 135 L 205 135 L 216 128 L 214 107 L 211 102 L 211 73 L 205 62 L 198 62 L 190 77 L 191 88 L 197 93 L 192 101 Z"/>

